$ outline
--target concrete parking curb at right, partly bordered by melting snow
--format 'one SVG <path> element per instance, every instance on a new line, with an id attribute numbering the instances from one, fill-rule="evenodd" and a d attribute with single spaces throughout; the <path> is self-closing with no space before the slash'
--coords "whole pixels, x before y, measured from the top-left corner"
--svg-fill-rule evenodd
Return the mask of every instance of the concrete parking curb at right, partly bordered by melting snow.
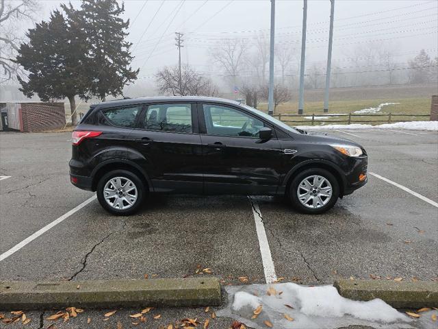
<path id="1" fill-rule="evenodd" d="M 380 298 L 396 308 L 438 306 L 438 282 L 393 280 L 337 280 L 333 286 L 351 300 Z"/>

